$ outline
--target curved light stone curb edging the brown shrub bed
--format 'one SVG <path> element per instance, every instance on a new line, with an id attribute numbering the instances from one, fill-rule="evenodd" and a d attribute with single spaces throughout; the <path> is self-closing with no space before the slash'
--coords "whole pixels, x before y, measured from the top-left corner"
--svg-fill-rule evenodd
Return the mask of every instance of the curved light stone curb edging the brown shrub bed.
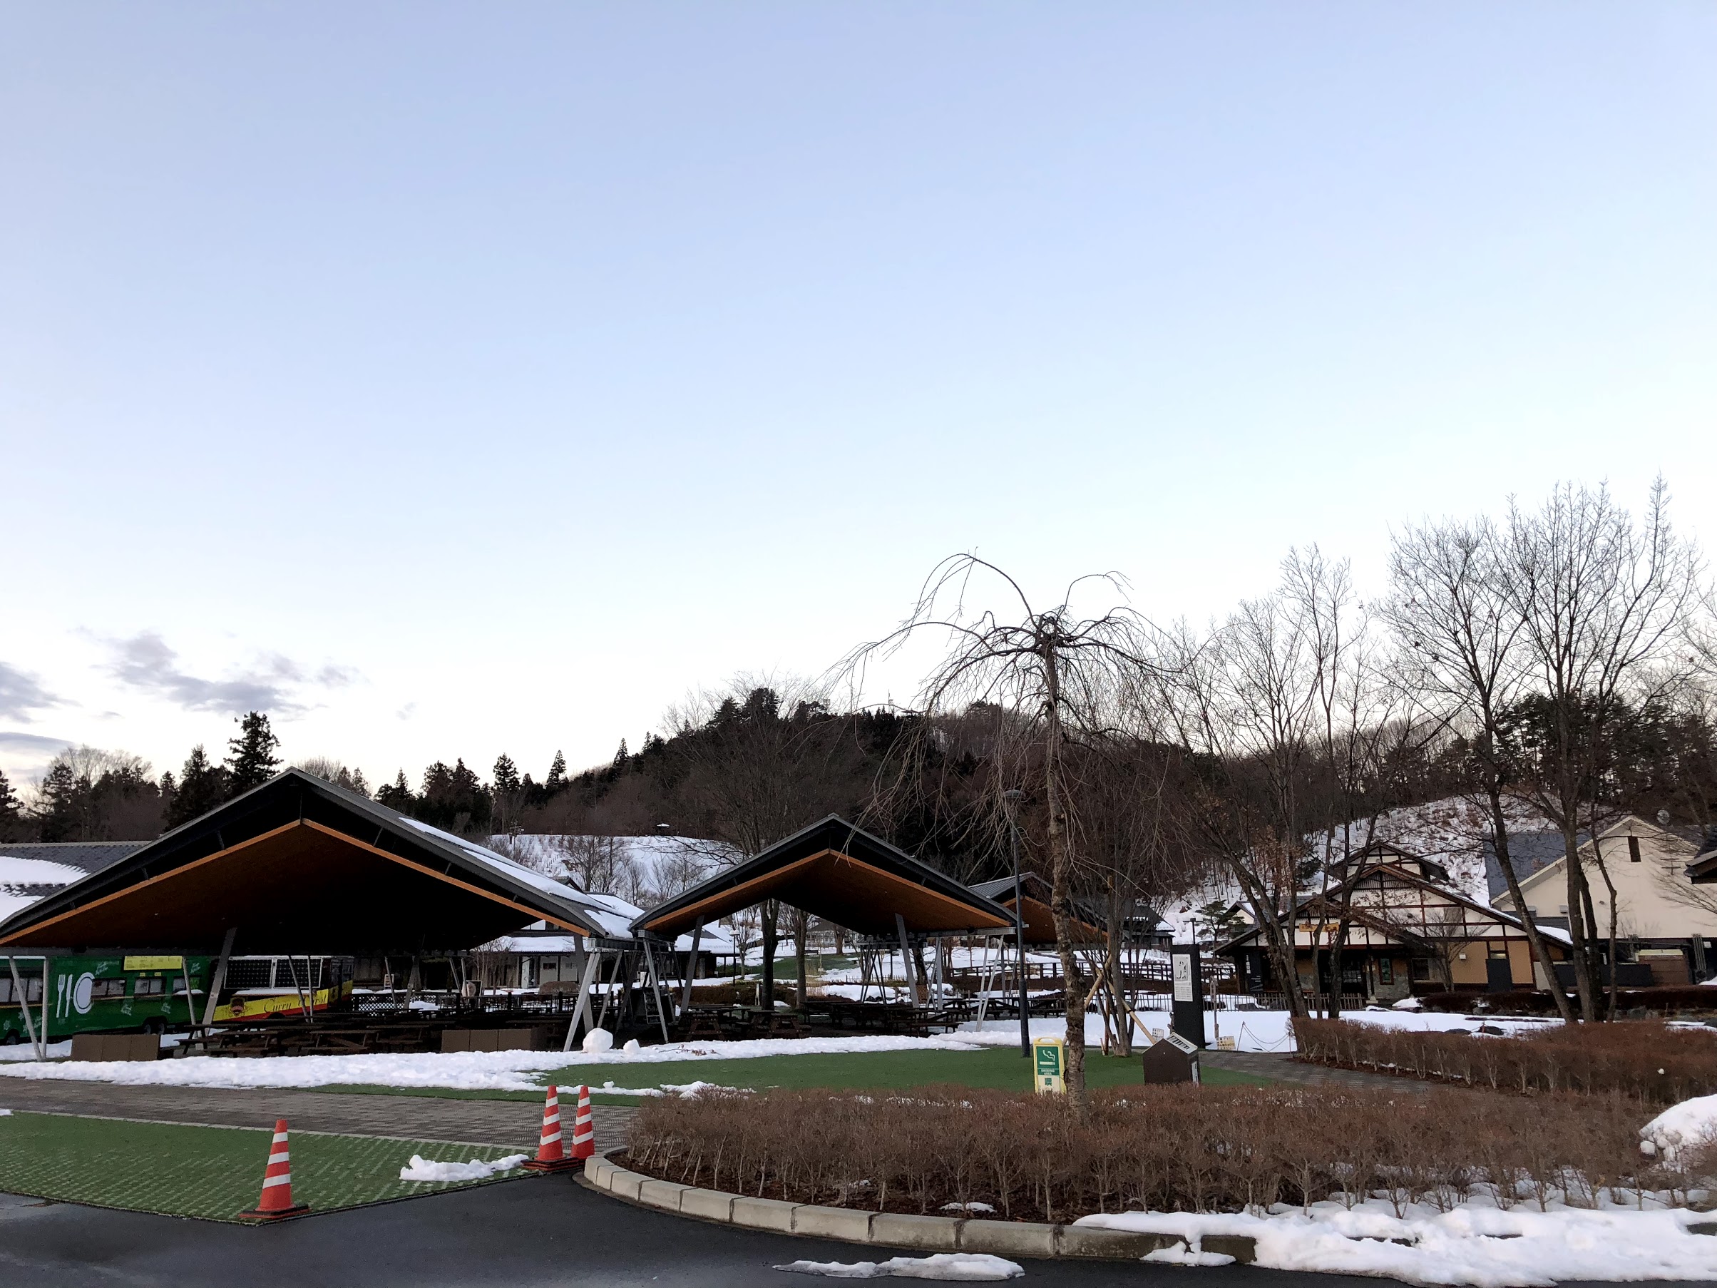
<path id="1" fill-rule="evenodd" d="M 982 1221 L 958 1216 L 901 1216 L 860 1212 L 853 1207 L 819 1207 L 743 1194 L 699 1190 L 675 1185 L 639 1171 L 627 1171 L 606 1157 L 584 1161 L 584 1178 L 596 1188 L 646 1207 L 695 1216 L 704 1221 L 773 1230 L 780 1235 L 838 1238 L 913 1252 L 991 1252 L 999 1257 L 1095 1257 L 1138 1261 L 1147 1252 L 1181 1243 L 1178 1235 L 1147 1235 L 1130 1230 L 1042 1224 L 1034 1221 Z M 1205 1235 L 1204 1252 L 1224 1252 L 1250 1262 L 1255 1242 L 1248 1235 Z"/>

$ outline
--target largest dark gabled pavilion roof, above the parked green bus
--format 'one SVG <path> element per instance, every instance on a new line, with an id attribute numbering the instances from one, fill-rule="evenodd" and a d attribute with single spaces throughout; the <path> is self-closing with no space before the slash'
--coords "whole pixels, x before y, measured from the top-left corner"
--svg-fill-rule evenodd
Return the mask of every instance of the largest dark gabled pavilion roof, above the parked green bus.
<path id="1" fill-rule="evenodd" d="M 287 833 L 306 828 L 304 841 L 282 841 Z M 234 854 L 246 859 L 232 862 Z M 340 855 L 349 857 L 345 867 Z M 175 878 L 215 860 L 225 864 L 220 896 L 235 902 L 251 898 L 254 903 L 256 896 L 246 886 L 268 888 L 270 907 L 280 907 L 278 917 L 268 914 L 275 938 L 302 939 L 318 924 L 337 927 L 330 934 L 347 936 L 369 926 L 376 933 L 366 945 L 403 946 L 421 941 L 421 934 L 412 933 L 414 910 L 424 917 L 433 914 L 434 933 L 470 939 L 452 943 L 443 938 L 434 945 L 438 948 L 474 946 L 539 919 L 587 934 L 625 934 L 623 924 L 615 924 L 613 917 L 604 926 L 596 908 L 587 907 L 570 886 L 314 775 L 285 769 L 82 881 L 21 908 L 0 922 L 0 943 L 70 946 L 52 943 L 57 931 L 46 922 L 70 922 L 96 912 L 98 905 L 105 908 L 105 929 L 130 934 L 132 926 L 137 927 L 139 938 L 113 943 L 161 943 L 148 934 L 151 919 L 175 927 L 179 934 L 194 926 L 199 941 L 213 938 L 218 943 L 230 924 L 223 919 L 220 898 L 204 893 L 203 898 L 213 903 L 187 903 L 187 896 L 179 896 L 175 903 L 172 893 Z M 149 891 L 151 912 L 129 917 L 127 902 L 141 903 L 139 891 L 144 890 Z M 395 893 L 398 898 L 393 898 Z M 470 926 L 464 931 L 460 919 L 467 914 Z M 256 917 L 252 908 L 252 922 Z M 251 929 L 240 933 L 249 936 Z M 185 946 L 192 945 L 187 941 Z M 294 946 L 302 950 L 304 943 Z"/>

